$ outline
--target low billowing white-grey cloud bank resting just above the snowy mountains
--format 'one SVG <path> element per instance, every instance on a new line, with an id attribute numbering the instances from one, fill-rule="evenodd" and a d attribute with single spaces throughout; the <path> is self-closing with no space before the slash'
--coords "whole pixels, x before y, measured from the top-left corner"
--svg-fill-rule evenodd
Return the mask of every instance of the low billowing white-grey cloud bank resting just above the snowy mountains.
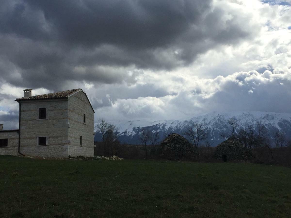
<path id="1" fill-rule="evenodd" d="M 107 119 L 185 119 L 213 110 L 288 112 L 291 107 L 289 72 L 239 72 L 184 85 L 187 88 L 175 95 L 117 99 L 111 106 L 98 108 L 97 115 Z"/>

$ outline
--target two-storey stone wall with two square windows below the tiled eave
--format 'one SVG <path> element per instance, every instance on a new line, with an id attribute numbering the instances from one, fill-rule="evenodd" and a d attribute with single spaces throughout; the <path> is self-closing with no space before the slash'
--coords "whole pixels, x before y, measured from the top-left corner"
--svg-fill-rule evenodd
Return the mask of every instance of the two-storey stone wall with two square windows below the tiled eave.
<path id="1" fill-rule="evenodd" d="M 38 119 L 38 108 L 47 118 Z M 68 157 L 68 99 L 21 102 L 20 152 L 26 156 Z M 48 137 L 48 145 L 37 145 L 37 137 Z"/>

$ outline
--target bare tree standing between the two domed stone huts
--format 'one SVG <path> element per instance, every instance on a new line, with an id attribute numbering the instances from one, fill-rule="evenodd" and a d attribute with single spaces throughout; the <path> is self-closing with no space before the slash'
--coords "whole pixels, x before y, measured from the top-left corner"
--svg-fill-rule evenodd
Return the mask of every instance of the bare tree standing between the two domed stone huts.
<path id="1" fill-rule="evenodd" d="M 195 121 L 191 122 L 191 124 L 188 125 L 186 131 L 184 132 L 184 135 L 186 135 L 190 139 L 190 142 L 197 149 L 199 142 L 205 140 L 208 134 L 206 133 L 206 128 L 204 127 L 204 125 Z"/>

